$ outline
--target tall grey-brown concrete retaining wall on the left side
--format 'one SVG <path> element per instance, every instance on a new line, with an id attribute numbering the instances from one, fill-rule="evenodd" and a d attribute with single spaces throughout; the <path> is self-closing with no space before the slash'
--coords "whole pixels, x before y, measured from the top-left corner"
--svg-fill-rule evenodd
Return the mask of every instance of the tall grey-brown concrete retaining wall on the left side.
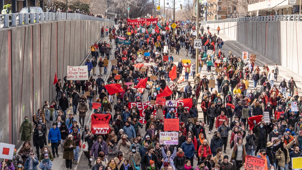
<path id="1" fill-rule="evenodd" d="M 55 72 L 62 79 L 67 65 L 78 66 L 108 22 L 56 21 L 0 31 L 0 142 L 16 144 L 25 116 L 55 99 Z M 64 82 L 64 81 L 63 81 Z"/>

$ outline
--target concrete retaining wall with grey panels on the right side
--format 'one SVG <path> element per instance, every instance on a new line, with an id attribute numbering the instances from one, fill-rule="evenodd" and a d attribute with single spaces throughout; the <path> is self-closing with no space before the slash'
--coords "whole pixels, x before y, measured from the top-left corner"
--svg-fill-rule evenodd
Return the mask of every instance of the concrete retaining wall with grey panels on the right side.
<path id="1" fill-rule="evenodd" d="M 302 73 L 302 22 L 223 22 L 207 24 L 297 74 Z M 206 26 L 207 26 L 206 25 Z"/>

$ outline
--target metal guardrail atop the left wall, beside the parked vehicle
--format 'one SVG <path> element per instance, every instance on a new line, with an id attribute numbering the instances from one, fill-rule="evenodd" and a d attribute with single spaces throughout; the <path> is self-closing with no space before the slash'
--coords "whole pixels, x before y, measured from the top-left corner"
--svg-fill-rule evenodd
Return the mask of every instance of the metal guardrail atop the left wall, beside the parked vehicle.
<path id="1" fill-rule="evenodd" d="M 9 28 L 10 26 L 22 26 L 28 24 L 63 20 L 90 20 L 100 22 L 111 22 L 112 24 L 114 24 L 114 21 L 109 19 L 98 18 L 84 14 L 67 13 L 66 15 L 66 13 L 62 12 L 0 14 L 0 18 L 0 24 L 3 24 L 3 28 Z"/>

